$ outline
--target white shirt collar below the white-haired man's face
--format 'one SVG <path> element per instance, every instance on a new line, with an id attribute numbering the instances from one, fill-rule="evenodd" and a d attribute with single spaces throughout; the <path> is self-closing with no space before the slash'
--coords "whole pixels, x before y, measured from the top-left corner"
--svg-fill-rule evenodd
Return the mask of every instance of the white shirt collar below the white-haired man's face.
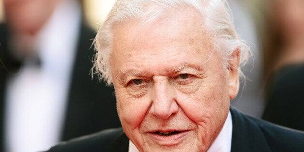
<path id="1" fill-rule="evenodd" d="M 207 152 L 230 152 L 232 139 L 232 117 L 229 111 L 221 132 L 218 134 L 213 144 Z M 133 142 L 129 141 L 129 152 L 139 152 Z"/>

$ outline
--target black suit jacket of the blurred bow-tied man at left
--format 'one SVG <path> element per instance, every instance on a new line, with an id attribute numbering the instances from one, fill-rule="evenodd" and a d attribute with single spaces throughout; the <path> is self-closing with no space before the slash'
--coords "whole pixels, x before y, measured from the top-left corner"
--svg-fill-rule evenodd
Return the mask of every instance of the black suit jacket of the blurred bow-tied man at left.
<path id="1" fill-rule="evenodd" d="M 62 33 L 64 34 L 64 33 Z M 91 79 L 92 39 L 96 32 L 82 24 L 77 42 L 76 59 L 70 82 L 62 140 L 91 134 L 102 129 L 120 127 L 114 89 Z M 7 47 L 8 31 L 0 25 L 0 152 L 3 149 L 4 95 L 8 76 L 16 74 L 20 62 L 10 56 Z"/>

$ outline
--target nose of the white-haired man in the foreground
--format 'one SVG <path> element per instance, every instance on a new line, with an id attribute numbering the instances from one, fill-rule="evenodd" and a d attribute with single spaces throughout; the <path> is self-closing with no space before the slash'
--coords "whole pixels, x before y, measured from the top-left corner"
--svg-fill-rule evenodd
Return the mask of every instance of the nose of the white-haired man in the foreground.
<path id="1" fill-rule="evenodd" d="M 153 84 L 151 92 L 152 106 L 150 109 L 152 115 L 167 119 L 178 112 L 179 106 L 174 92 L 173 86 L 166 79 Z"/>

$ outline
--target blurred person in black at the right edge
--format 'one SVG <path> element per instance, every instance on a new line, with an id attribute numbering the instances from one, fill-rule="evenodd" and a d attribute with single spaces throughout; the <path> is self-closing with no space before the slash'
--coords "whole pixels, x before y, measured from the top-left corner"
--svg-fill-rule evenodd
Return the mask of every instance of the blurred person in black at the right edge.
<path id="1" fill-rule="evenodd" d="M 267 106 L 263 119 L 304 130 L 304 0 L 261 2 Z"/>

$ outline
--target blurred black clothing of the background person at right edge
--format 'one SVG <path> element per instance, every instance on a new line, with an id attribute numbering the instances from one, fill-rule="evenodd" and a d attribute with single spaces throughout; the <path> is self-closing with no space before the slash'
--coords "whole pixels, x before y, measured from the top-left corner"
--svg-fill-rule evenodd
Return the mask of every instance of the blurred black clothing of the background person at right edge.
<path id="1" fill-rule="evenodd" d="M 274 74 L 263 119 L 304 130 L 304 64 L 288 65 Z"/>

